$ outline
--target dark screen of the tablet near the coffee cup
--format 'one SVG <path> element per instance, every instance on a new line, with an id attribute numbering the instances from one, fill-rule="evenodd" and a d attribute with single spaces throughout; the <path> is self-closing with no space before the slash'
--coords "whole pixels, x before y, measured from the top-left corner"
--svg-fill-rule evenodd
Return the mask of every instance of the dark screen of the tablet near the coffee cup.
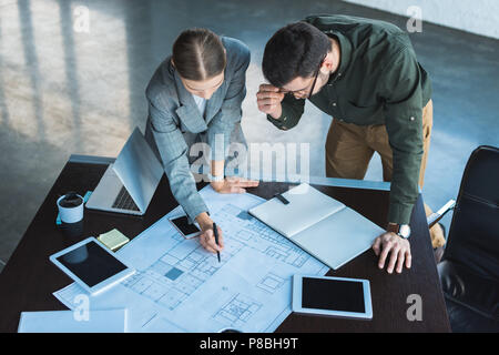
<path id="1" fill-rule="evenodd" d="M 128 268 L 94 241 L 83 244 L 57 260 L 89 287 Z"/>

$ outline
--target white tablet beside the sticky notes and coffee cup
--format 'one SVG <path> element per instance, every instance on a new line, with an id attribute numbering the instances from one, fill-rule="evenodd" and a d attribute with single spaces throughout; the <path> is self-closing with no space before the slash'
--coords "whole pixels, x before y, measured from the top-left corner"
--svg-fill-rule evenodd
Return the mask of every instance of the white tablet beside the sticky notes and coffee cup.
<path id="1" fill-rule="evenodd" d="M 50 261 L 92 295 L 135 272 L 95 237 L 88 237 L 51 255 Z"/>

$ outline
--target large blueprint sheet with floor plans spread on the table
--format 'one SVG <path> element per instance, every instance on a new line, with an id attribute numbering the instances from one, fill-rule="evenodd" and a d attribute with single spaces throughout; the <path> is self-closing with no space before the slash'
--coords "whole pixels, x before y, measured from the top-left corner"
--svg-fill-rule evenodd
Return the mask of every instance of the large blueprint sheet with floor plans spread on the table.
<path id="1" fill-rule="evenodd" d="M 136 273 L 89 295 L 90 310 L 128 308 L 131 332 L 273 332 L 292 312 L 292 276 L 329 270 L 247 213 L 265 200 L 218 194 L 210 185 L 201 195 L 223 231 L 221 263 L 170 223 L 184 214 L 179 206 L 118 252 Z M 80 294 L 73 283 L 54 296 L 74 310 Z"/>

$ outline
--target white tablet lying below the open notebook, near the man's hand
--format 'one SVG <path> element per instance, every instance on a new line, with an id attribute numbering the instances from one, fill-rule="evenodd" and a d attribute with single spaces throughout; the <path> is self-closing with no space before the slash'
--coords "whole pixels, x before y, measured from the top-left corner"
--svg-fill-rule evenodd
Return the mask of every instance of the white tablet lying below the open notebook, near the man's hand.
<path id="1" fill-rule="evenodd" d="M 369 281 L 294 275 L 293 312 L 371 320 Z"/>

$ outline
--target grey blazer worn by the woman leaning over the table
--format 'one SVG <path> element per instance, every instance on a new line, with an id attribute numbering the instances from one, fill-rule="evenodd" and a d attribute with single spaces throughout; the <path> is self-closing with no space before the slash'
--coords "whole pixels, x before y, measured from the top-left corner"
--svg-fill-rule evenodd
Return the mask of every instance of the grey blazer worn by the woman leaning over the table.
<path id="1" fill-rule="evenodd" d="M 149 101 L 145 138 L 161 156 L 172 193 L 191 221 L 200 213 L 208 212 L 208 209 L 191 173 L 190 146 L 184 135 L 203 135 L 212 149 L 213 160 L 225 160 L 233 131 L 238 130 L 242 135 L 241 105 L 246 95 L 249 50 L 243 42 L 227 37 L 222 37 L 222 43 L 227 58 L 225 79 L 206 102 L 204 118 L 171 64 L 171 57 L 157 68 L 145 91 Z M 218 143 L 222 135 L 223 148 Z"/>

